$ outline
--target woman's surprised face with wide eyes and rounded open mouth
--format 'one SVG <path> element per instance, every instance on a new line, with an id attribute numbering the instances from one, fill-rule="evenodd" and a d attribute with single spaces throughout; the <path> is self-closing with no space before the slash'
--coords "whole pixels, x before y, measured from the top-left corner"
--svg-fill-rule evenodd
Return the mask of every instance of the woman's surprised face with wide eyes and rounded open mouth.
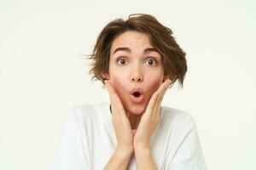
<path id="1" fill-rule="evenodd" d="M 141 115 L 163 81 L 161 56 L 154 50 L 149 37 L 139 31 L 125 31 L 113 41 L 110 49 L 109 81 L 119 95 L 125 111 Z M 137 98 L 131 90 L 140 88 Z"/>

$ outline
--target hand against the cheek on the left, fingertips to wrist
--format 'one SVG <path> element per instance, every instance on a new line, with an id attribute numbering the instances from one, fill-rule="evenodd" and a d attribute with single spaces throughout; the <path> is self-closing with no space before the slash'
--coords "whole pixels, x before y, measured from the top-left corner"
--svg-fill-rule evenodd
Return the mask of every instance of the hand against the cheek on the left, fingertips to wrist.
<path id="1" fill-rule="evenodd" d="M 113 84 L 105 80 L 108 88 L 109 98 L 111 101 L 112 122 L 117 139 L 117 149 L 133 151 L 133 134 L 131 124 L 126 116 L 125 109 L 122 105 L 119 95 L 116 93 Z"/>

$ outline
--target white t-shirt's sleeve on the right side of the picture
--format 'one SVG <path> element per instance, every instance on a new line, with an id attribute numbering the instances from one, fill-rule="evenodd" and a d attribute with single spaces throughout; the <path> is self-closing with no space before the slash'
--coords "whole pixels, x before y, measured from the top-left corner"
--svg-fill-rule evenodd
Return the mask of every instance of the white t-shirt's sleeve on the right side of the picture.
<path id="1" fill-rule="evenodd" d="M 167 160 L 166 170 L 207 170 L 201 142 L 192 116 L 175 155 Z"/>

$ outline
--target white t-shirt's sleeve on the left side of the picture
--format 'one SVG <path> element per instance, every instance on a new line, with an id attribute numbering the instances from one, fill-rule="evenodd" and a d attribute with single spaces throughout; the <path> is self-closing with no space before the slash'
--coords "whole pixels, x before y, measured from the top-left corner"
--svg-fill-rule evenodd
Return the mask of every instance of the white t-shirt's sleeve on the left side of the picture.
<path id="1" fill-rule="evenodd" d="M 51 170 L 84 170 L 82 142 L 79 133 L 79 125 L 74 111 L 67 112 L 62 127 L 61 140 L 55 153 L 55 161 L 51 164 Z"/>

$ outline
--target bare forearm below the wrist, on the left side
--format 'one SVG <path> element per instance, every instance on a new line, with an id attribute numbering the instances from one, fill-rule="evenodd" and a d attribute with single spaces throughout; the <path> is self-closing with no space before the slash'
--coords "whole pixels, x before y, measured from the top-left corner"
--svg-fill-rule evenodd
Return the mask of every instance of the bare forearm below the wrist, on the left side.
<path id="1" fill-rule="evenodd" d="M 128 163 L 131 159 L 131 155 L 132 150 L 115 150 L 113 152 L 113 156 L 108 161 L 108 164 L 106 165 L 106 167 L 104 167 L 104 170 L 127 169 Z"/>

